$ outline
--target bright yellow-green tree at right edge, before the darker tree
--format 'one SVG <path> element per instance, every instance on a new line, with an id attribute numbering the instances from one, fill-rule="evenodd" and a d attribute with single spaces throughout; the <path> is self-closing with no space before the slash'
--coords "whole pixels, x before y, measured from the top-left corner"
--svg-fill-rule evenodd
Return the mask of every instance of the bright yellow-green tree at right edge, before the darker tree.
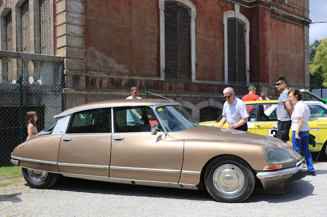
<path id="1" fill-rule="evenodd" d="M 310 85 L 327 87 L 327 38 L 317 47 L 314 62 L 310 61 Z"/>

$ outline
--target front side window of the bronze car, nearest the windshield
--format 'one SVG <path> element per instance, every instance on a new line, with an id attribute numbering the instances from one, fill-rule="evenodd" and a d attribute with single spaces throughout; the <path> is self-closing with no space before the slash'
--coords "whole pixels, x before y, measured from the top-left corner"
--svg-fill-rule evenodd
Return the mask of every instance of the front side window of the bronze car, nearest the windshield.
<path id="1" fill-rule="evenodd" d="M 150 107 L 114 108 L 115 132 L 151 132 L 151 125 L 158 124 Z"/>

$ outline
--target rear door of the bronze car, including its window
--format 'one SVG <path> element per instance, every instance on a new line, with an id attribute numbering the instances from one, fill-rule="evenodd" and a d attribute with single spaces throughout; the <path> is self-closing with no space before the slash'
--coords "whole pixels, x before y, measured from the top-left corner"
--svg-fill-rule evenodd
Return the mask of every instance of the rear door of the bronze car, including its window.
<path id="1" fill-rule="evenodd" d="M 111 108 L 72 115 L 59 146 L 59 173 L 109 177 Z"/>

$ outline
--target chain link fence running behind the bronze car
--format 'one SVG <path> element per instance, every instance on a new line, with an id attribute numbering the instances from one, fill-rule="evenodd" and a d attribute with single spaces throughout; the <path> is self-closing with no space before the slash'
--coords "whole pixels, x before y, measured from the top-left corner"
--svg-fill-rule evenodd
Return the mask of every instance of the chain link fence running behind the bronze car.
<path id="1" fill-rule="evenodd" d="M 21 79 L 21 78 L 20 78 Z M 222 113 L 223 90 L 232 87 L 237 97 L 248 93 L 246 83 L 208 80 L 158 80 L 120 76 L 64 75 L 41 77 L 39 84 L 24 80 L 17 84 L 0 84 L 0 177 L 17 174 L 19 167 L 10 162 L 12 150 L 27 138 L 26 113 L 35 111 L 38 131 L 55 122 L 54 116 L 73 106 L 114 99 L 125 99 L 131 87 L 138 87 L 139 97 L 159 98 L 155 93 L 179 102 L 197 121 L 212 121 Z M 26 84 L 27 83 L 27 84 Z M 256 94 L 265 92 L 270 99 L 279 96 L 274 83 L 251 83 Z M 303 88 L 291 84 L 289 87 Z M 146 92 L 148 91 L 148 92 Z"/>

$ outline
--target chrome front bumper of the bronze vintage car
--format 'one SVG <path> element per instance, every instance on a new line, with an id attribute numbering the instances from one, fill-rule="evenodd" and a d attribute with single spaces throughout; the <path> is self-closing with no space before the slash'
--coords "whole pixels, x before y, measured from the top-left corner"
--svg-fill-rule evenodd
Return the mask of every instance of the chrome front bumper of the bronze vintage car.
<path id="1" fill-rule="evenodd" d="M 296 166 L 277 171 L 262 171 L 256 174 L 256 177 L 261 181 L 264 189 L 276 186 L 286 181 L 294 181 L 306 177 L 309 171 L 303 169 L 303 158 L 297 161 Z"/>

